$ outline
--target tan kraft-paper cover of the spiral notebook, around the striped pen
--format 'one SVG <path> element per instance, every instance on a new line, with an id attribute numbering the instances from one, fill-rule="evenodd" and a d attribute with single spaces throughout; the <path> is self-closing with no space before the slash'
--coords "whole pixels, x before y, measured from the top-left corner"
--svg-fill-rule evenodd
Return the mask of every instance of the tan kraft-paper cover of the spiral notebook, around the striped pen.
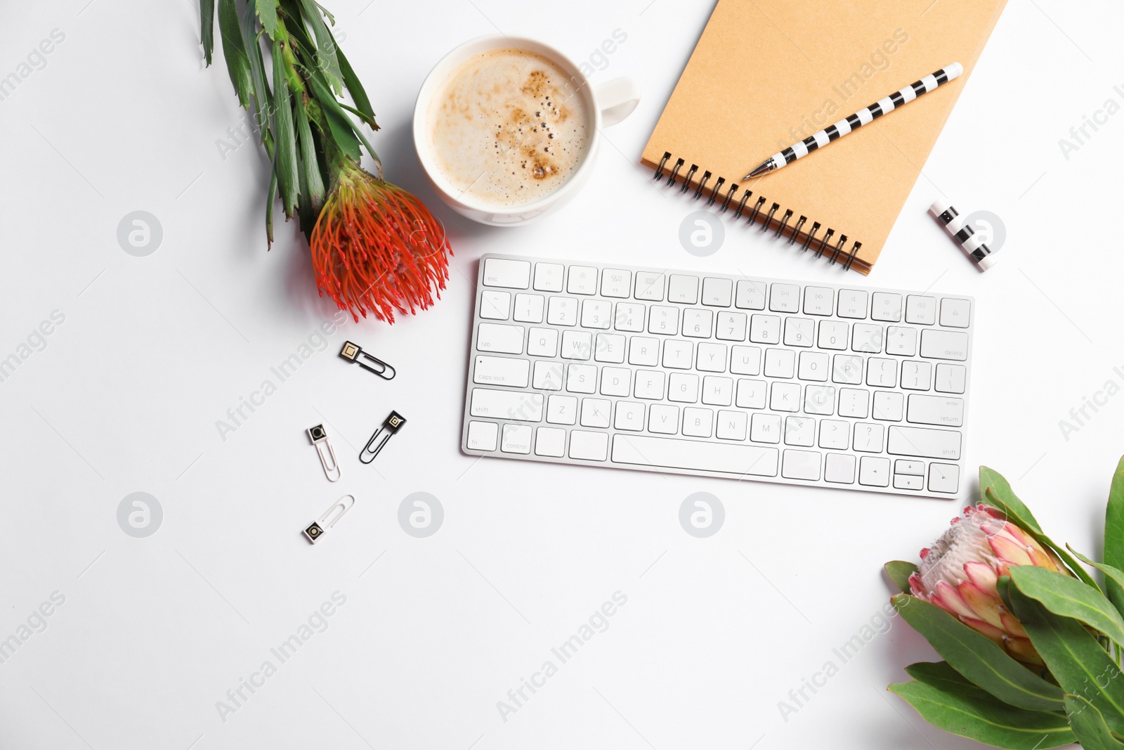
<path id="1" fill-rule="evenodd" d="M 1005 2 L 719 0 L 642 161 L 870 273 Z M 741 179 L 953 62 L 964 66 L 959 79 L 777 172 Z"/>

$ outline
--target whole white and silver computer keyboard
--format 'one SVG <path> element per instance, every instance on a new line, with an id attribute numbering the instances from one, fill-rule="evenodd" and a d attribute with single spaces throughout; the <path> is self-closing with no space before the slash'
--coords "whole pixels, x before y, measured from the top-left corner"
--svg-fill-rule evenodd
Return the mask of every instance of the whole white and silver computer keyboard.
<path id="1" fill-rule="evenodd" d="M 964 487 L 975 300 L 484 255 L 472 455 L 897 495 Z"/>

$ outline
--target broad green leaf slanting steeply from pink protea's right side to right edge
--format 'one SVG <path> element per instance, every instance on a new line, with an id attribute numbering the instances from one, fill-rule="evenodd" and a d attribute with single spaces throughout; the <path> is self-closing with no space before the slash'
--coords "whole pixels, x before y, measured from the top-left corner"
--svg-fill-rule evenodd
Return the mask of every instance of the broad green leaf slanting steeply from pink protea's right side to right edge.
<path id="1" fill-rule="evenodd" d="M 1025 596 L 1017 584 L 1006 593 L 1012 612 L 1067 697 L 1088 699 L 1114 730 L 1124 731 L 1124 680 L 1097 639 L 1078 621 L 1057 615 Z"/>

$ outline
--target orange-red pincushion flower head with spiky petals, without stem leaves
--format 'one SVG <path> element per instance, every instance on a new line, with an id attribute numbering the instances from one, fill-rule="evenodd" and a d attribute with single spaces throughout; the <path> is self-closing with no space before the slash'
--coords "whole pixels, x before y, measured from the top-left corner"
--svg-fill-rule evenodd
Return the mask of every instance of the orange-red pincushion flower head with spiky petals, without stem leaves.
<path id="1" fill-rule="evenodd" d="M 335 187 L 309 245 L 316 284 L 339 309 L 395 322 L 441 298 L 452 252 L 441 223 L 417 198 L 339 160 Z"/>

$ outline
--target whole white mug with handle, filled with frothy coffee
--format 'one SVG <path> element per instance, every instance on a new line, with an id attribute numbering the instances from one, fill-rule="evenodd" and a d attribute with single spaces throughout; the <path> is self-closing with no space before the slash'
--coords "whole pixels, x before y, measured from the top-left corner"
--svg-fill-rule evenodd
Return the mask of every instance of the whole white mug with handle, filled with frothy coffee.
<path id="1" fill-rule="evenodd" d="M 601 128 L 638 102 L 631 78 L 593 89 L 549 45 L 486 36 L 429 72 L 414 107 L 414 145 L 455 211 L 483 224 L 526 224 L 574 196 L 593 169 Z"/>

